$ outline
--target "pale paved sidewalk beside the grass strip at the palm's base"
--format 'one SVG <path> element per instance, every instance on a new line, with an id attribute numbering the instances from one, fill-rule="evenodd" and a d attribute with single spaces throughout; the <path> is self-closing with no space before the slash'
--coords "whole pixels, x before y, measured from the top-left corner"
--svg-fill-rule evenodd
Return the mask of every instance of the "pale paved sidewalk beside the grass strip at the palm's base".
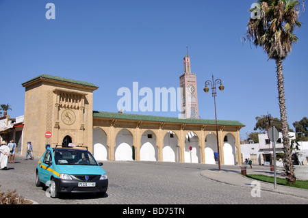
<path id="1" fill-rule="evenodd" d="M 238 187 L 245 187 L 245 188 L 253 188 L 254 185 L 251 185 L 253 179 L 247 178 L 246 176 L 242 176 L 240 174 L 241 169 L 240 166 L 238 169 L 231 168 L 226 165 L 221 167 L 221 170 L 218 169 L 207 169 L 200 172 L 201 176 L 208 178 L 210 180 L 214 180 L 216 182 L 222 182 L 229 185 L 235 185 Z M 253 169 L 247 167 L 246 174 L 264 174 L 266 176 L 274 176 L 274 172 L 270 171 L 269 167 L 260 167 L 260 166 L 253 166 Z M 277 172 L 277 178 L 280 177 L 281 173 Z M 272 191 L 275 193 L 282 193 L 285 195 L 292 195 L 297 197 L 304 197 L 308 200 L 308 190 L 307 189 L 298 189 L 294 187 L 287 187 L 284 185 L 277 185 L 277 189 L 274 189 L 274 184 L 268 182 L 261 182 L 261 191 Z M 308 203 L 308 202 L 307 202 Z"/>

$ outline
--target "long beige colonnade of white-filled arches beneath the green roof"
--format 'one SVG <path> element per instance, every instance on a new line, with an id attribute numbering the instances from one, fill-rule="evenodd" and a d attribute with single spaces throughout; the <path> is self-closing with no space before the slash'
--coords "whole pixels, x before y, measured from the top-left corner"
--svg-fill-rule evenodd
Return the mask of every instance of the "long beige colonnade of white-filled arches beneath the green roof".
<path id="1" fill-rule="evenodd" d="M 142 115 L 139 117 L 142 118 Z M 180 122 L 182 119 L 178 120 Z M 240 164 L 240 127 L 220 125 L 218 129 L 220 163 Z M 101 161 L 218 163 L 216 127 L 209 124 L 117 120 L 94 116 L 92 144 L 94 157 Z"/>

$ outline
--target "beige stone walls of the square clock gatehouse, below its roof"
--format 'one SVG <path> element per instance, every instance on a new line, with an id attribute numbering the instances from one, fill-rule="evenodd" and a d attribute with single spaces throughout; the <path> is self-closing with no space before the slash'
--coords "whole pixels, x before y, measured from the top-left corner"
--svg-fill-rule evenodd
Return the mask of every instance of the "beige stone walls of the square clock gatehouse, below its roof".
<path id="1" fill-rule="evenodd" d="M 68 135 L 74 144 L 89 146 L 92 151 L 93 90 L 82 85 L 44 79 L 27 84 L 23 154 L 27 141 L 31 141 L 34 156 L 42 155 L 47 144 L 46 131 L 52 133 L 48 139 L 51 146 L 62 144 Z"/>

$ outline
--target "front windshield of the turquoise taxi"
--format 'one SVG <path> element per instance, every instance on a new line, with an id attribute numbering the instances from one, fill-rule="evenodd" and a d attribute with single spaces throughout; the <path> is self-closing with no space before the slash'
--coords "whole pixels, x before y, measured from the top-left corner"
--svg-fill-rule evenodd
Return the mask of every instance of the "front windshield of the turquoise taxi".
<path id="1" fill-rule="evenodd" d="M 59 165 L 97 165 L 94 157 L 86 150 L 56 149 L 55 164 Z"/>

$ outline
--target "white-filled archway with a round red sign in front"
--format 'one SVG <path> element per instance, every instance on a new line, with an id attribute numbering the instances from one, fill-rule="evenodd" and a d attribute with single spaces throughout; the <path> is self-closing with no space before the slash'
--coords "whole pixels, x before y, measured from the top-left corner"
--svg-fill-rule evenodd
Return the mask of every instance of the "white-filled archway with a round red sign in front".
<path id="1" fill-rule="evenodd" d="M 198 136 L 194 132 L 189 132 L 185 137 L 184 159 L 185 163 L 201 163 Z"/>

